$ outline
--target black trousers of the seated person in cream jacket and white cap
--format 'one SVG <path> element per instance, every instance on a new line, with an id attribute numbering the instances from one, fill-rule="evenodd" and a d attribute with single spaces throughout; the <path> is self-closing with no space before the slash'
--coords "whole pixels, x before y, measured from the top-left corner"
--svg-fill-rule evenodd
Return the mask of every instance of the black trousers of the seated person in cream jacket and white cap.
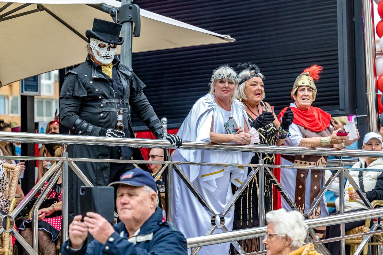
<path id="1" fill-rule="evenodd" d="M 356 209 L 356 210 L 348 211 L 347 213 L 356 212 L 356 211 L 364 211 L 364 210 L 366 210 L 366 209 Z M 337 213 L 331 213 L 330 215 L 335 215 L 335 214 L 339 214 L 339 213 L 338 212 Z M 360 226 L 363 226 L 364 224 L 365 224 L 365 220 L 345 223 L 344 224 L 344 230 L 345 230 L 345 232 L 347 232 L 347 231 L 353 229 L 354 227 L 360 227 Z M 372 224 L 373 223 L 371 221 L 371 225 L 368 227 L 371 227 Z M 340 236 L 340 225 L 327 226 L 326 238 L 333 238 L 333 237 L 339 237 L 339 236 Z M 340 241 L 327 243 L 327 249 L 329 250 L 331 255 L 339 255 L 340 254 Z M 346 245 L 346 253 L 345 254 L 349 254 L 349 253 L 350 253 L 350 245 Z"/>

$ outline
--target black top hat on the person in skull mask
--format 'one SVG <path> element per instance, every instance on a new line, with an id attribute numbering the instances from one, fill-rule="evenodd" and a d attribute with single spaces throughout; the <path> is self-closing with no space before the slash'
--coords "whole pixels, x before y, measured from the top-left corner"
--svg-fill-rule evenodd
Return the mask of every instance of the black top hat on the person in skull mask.
<path id="1" fill-rule="evenodd" d="M 122 25 L 118 23 L 103 19 L 94 19 L 92 30 L 88 29 L 85 32 L 85 36 L 88 38 L 92 37 L 103 42 L 121 45 L 124 42 L 124 38 L 119 37 L 121 27 Z"/>

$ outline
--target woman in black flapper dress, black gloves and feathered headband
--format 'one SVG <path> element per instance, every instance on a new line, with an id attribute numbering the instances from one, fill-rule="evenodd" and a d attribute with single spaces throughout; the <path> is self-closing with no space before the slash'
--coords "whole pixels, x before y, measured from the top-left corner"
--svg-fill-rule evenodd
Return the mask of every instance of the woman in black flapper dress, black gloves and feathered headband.
<path id="1" fill-rule="evenodd" d="M 262 145 L 281 145 L 287 136 L 289 127 L 294 120 L 294 114 L 291 110 L 287 110 L 282 117 L 282 123 L 277 119 L 277 116 L 271 111 L 263 111 L 265 106 L 270 106 L 263 101 L 265 98 L 264 80 L 265 76 L 260 72 L 257 65 L 252 63 L 239 64 L 241 72 L 236 98 L 242 102 L 246 109 L 247 120 L 251 127 L 254 127 L 260 134 L 260 142 Z M 253 154 L 250 164 L 259 164 L 261 153 Z M 262 153 L 264 164 L 273 165 L 275 163 L 275 154 Z M 251 167 L 248 169 L 248 174 Z M 259 176 L 255 175 L 250 184 L 241 194 L 234 205 L 234 225 L 233 230 L 244 229 L 249 227 L 259 226 L 259 200 L 258 200 L 258 183 Z M 272 211 L 274 206 L 273 201 L 273 182 L 270 174 L 265 172 L 265 213 Z M 238 189 L 232 185 L 233 193 Z M 255 252 L 259 250 L 259 240 L 247 239 L 239 241 L 239 244 L 246 252 Z M 234 250 L 231 252 L 235 254 Z"/>

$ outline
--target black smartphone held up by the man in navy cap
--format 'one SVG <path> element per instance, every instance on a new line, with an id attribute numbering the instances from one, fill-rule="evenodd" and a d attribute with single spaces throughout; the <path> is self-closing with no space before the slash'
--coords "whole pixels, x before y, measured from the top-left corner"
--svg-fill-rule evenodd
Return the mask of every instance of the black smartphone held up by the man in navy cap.
<path id="1" fill-rule="evenodd" d="M 87 215 L 87 212 L 93 212 L 100 214 L 110 223 L 114 222 L 115 193 L 113 187 L 81 186 L 79 193 L 82 218 Z"/>

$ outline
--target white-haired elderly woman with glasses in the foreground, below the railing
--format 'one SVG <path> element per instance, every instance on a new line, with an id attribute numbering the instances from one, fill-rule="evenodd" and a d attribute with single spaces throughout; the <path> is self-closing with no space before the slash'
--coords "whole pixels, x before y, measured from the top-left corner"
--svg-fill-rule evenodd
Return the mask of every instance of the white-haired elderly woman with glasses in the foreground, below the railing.
<path id="1" fill-rule="evenodd" d="M 303 245 L 308 227 L 300 212 L 270 211 L 266 214 L 266 221 L 266 234 L 262 240 L 266 255 L 320 255 L 313 244 Z"/>

